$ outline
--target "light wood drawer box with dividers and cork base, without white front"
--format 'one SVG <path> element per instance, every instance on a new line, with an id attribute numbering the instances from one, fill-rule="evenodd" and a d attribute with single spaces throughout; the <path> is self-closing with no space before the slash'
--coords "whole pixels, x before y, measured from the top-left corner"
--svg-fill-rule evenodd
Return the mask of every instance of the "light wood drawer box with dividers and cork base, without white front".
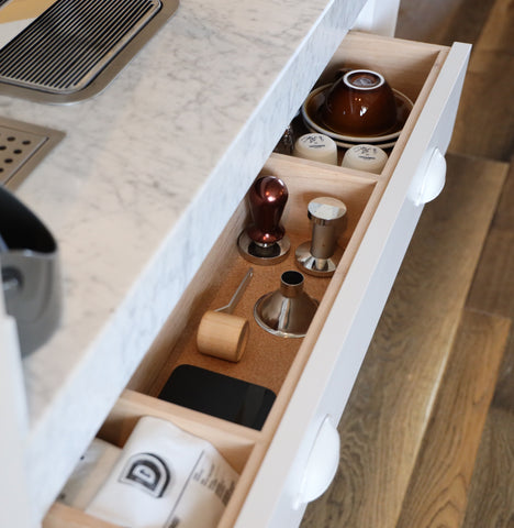
<path id="1" fill-rule="evenodd" d="M 248 223 L 249 218 L 245 198 L 98 433 L 99 438 L 122 447 L 137 419 L 152 415 L 167 418 L 177 426 L 211 441 L 241 473 L 220 527 L 230 527 L 237 519 L 273 432 L 447 53 L 448 48 L 442 46 L 375 37 L 361 33 L 349 33 L 345 37 L 333 61 L 320 77 L 319 85 L 329 81 L 334 73 L 342 67 L 377 69 L 384 75 L 391 86 L 415 102 L 394 148 L 389 151 L 389 161 L 382 173 L 372 175 L 272 154 L 260 175 L 278 176 L 289 189 L 289 200 L 282 217 L 282 223 L 291 240 L 288 258 L 273 266 L 258 266 L 239 255 L 236 246 L 237 235 Z M 303 339 L 275 337 L 258 327 L 254 320 L 253 308 L 261 295 L 279 287 L 283 271 L 298 270 L 294 250 L 311 239 L 306 206 L 311 199 L 319 196 L 339 198 L 347 205 L 348 226 L 338 240 L 338 245 L 344 249 L 343 257 L 332 278 L 304 274 L 305 292 L 321 301 L 306 337 Z M 246 317 L 250 324 L 249 340 L 243 359 L 238 363 L 232 363 L 200 354 L 195 348 L 195 333 L 202 315 L 208 309 L 226 305 L 250 266 L 254 268 L 254 277 L 234 312 Z M 169 375 L 180 364 L 201 366 L 273 391 L 277 399 L 262 429 L 260 431 L 248 429 L 157 399 L 156 396 Z M 43 526 L 101 528 L 114 525 L 55 503 Z"/>

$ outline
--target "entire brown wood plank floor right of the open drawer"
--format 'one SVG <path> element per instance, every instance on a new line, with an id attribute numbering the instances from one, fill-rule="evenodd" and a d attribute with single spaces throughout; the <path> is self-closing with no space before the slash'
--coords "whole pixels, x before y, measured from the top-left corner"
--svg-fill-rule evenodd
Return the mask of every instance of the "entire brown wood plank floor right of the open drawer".
<path id="1" fill-rule="evenodd" d="M 396 35 L 473 52 L 425 208 L 302 528 L 514 528 L 514 0 L 402 0 Z"/>

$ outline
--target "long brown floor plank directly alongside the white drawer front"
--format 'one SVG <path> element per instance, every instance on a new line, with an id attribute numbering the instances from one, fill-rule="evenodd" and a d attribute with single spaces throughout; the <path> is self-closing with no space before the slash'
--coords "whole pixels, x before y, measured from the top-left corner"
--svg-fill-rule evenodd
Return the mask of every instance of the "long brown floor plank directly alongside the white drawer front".
<path id="1" fill-rule="evenodd" d="M 449 156 L 343 415 L 339 472 L 303 528 L 395 526 L 505 174 Z"/>

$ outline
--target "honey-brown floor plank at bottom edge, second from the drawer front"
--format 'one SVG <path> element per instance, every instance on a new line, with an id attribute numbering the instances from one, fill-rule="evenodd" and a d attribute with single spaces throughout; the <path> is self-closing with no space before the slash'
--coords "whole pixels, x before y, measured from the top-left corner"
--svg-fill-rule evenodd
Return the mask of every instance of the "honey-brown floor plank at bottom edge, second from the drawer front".
<path id="1" fill-rule="evenodd" d="M 510 319 L 465 310 L 396 528 L 461 526 L 510 328 Z"/>

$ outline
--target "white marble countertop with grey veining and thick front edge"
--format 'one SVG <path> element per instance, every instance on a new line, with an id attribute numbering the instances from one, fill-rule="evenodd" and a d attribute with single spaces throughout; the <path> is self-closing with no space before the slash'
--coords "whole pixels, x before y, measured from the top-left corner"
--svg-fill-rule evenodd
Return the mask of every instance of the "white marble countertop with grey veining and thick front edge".
<path id="1" fill-rule="evenodd" d="M 64 316 L 24 360 L 41 516 L 365 0 L 182 0 L 96 98 L 0 96 L 66 138 L 18 189 L 60 249 Z"/>

